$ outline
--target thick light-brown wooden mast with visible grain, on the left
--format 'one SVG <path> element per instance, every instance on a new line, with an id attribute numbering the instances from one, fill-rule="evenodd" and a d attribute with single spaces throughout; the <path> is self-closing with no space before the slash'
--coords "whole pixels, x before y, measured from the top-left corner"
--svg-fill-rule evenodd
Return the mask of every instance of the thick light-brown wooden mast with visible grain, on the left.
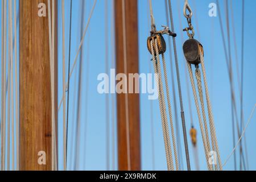
<path id="1" fill-rule="evenodd" d="M 39 3 L 44 3 L 47 9 L 47 0 L 19 1 L 20 170 L 51 170 L 51 109 L 53 108 L 56 108 L 57 121 L 57 36 L 54 45 L 55 106 L 52 108 L 48 15 L 39 17 Z M 57 22 L 57 1 L 54 8 L 55 22 Z M 46 152 L 46 165 L 38 163 L 39 151 Z"/>

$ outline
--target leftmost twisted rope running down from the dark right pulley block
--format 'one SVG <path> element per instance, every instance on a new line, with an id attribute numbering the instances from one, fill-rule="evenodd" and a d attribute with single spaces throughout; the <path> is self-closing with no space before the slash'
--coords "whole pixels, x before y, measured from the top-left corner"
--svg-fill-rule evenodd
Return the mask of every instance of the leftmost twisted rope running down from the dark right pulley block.
<path id="1" fill-rule="evenodd" d="M 191 64 L 189 64 L 187 62 L 187 66 L 188 66 L 188 72 L 189 72 L 189 77 L 191 80 L 191 85 L 192 85 L 192 90 L 193 90 L 193 96 L 195 98 L 195 104 L 196 104 L 196 110 L 197 110 L 197 115 L 199 117 L 199 125 L 200 125 L 200 130 L 201 130 L 201 136 L 203 138 L 203 145 L 204 145 L 204 152 L 205 152 L 205 159 L 207 161 L 207 167 L 210 171 L 212 171 L 212 166 L 209 165 L 208 163 L 208 154 L 209 154 L 209 150 L 207 147 L 207 143 L 206 143 L 206 139 L 205 139 L 205 134 L 204 134 L 204 127 L 203 127 L 203 123 L 202 123 L 202 119 L 201 119 L 201 114 L 200 114 L 200 110 L 199 110 L 199 103 L 197 100 L 197 95 L 196 95 L 196 86 L 195 86 L 195 82 L 194 82 L 194 78 L 193 78 L 193 74 L 192 74 L 192 68 L 191 68 Z"/>

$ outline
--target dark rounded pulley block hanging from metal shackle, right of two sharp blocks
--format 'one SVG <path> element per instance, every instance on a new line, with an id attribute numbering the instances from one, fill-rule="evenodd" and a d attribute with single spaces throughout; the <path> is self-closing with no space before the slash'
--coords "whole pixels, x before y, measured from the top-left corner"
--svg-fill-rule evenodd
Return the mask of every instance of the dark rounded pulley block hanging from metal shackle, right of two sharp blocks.
<path id="1" fill-rule="evenodd" d="M 185 59 L 190 64 L 200 64 L 200 52 L 204 55 L 204 49 L 200 42 L 198 42 L 196 39 L 188 39 L 183 44 L 183 52 L 185 55 Z"/>

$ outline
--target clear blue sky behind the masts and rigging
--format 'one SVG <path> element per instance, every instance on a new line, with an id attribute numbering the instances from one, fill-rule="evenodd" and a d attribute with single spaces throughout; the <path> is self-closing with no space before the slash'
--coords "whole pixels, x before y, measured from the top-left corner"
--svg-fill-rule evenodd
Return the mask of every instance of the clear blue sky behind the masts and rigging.
<path id="1" fill-rule="evenodd" d="M 129 1 L 129 0 L 127 0 Z M 59 101 L 62 96 L 62 33 L 61 33 L 61 6 L 59 1 Z M 195 39 L 199 40 L 204 46 L 205 52 L 205 67 L 207 70 L 208 86 L 210 90 L 210 98 L 212 101 L 214 122 L 216 126 L 216 134 L 218 139 L 218 146 L 220 149 L 222 163 L 226 160 L 228 155 L 233 149 L 233 138 L 232 138 L 232 114 L 230 107 L 230 83 L 228 77 L 228 69 L 225 62 L 224 47 L 222 44 L 221 29 L 219 23 L 219 15 L 222 16 L 224 22 L 224 34 L 227 43 L 227 31 L 226 31 L 226 18 L 224 1 L 220 0 L 221 12 L 217 11 L 217 17 L 210 17 L 208 15 L 209 4 L 215 3 L 215 0 L 190 0 L 189 4 L 192 7 L 194 16 L 192 18 L 192 24 L 195 27 Z M 237 56 L 238 56 L 238 70 L 241 71 L 241 5 L 242 1 L 233 0 L 233 11 L 234 11 L 234 31 L 237 43 Z M 230 5 L 230 0 L 228 1 Z M 152 0 L 153 11 L 155 16 L 155 23 L 158 30 L 162 29 L 161 25 L 166 25 L 166 7 L 164 0 Z M 85 0 L 85 20 L 82 23 L 82 29 L 87 23 L 89 12 L 92 8 L 93 0 Z M 113 52 L 113 6 L 112 1 L 108 1 L 108 45 L 109 45 L 109 68 L 114 68 Z M 184 67 L 184 56 L 182 51 L 182 37 L 184 40 L 188 39 L 187 34 L 182 31 L 184 27 L 187 27 L 187 20 L 183 16 L 183 5 L 184 1 L 174 0 L 172 1 L 172 10 L 174 15 L 174 26 L 177 33 L 177 56 L 179 59 L 180 79 L 181 79 L 181 90 L 183 93 L 183 104 L 185 111 L 185 121 L 187 125 L 187 133 L 191 129 L 191 119 L 189 115 L 188 95 L 187 95 L 187 84 L 185 81 L 185 69 Z M 1 5 L 0 5 L 1 6 Z M 245 123 L 249 118 L 250 112 L 256 104 L 256 86 L 255 86 L 255 47 L 256 47 L 256 17 L 254 7 L 256 1 L 245 0 L 245 52 L 244 52 L 244 97 L 243 97 L 243 113 Z M 66 57 L 66 70 L 68 70 L 68 38 L 69 38 L 69 7 L 70 1 L 65 1 L 65 57 Z M 80 169 L 80 170 L 105 170 L 106 167 L 106 104 L 105 94 L 99 94 L 97 92 L 97 85 L 100 81 L 97 81 L 97 76 L 100 73 L 105 73 L 105 1 L 97 1 L 96 9 L 94 10 L 88 32 L 86 33 L 84 40 L 84 56 L 82 59 L 82 77 L 81 77 L 81 125 L 80 137 L 78 138 L 78 147 L 76 150 L 75 135 L 76 121 L 77 121 L 77 85 L 78 85 L 78 71 L 79 64 L 76 65 L 75 71 L 71 77 L 71 89 L 70 89 L 70 102 L 69 102 L 69 135 L 68 135 L 68 169 Z M 150 53 L 146 47 L 146 40 L 149 36 L 150 25 L 149 22 L 149 7 L 147 0 L 138 1 L 138 22 L 139 22 L 139 72 L 140 73 L 152 73 L 152 65 L 150 61 Z M 229 7 L 229 13 L 231 9 Z M 234 48 L 233 29 L 232 29 L 232 17 L 229 14 L 230 22 L 230 39 L 231 39 L 231 51 L 232 51 L 232 65 L 234 73 L 234 92 L 236 94 L 236 102 L 238 108 L 238 117 L 240 118 L 240 97 L 239 88 L 237 82 L 237 67 L 236 67 L 236 52 Z M 80 26 L 81 26 L 81 1 L 73 1 L 73 14 L 72 14 L 72 42 L 71 42 L 71 65 L 75 59 L 77 49 L 80 42 Z M 164 36 L 168 43 L 167 36 Z M 170 45 L 167 44 L 169 48 Z M 171 45 L 172 46 L 172 45 Z M 171 49 L 173 50 L 173 49 Z M 167 69 L 169 86 L 171 89 L 171 72 L 170 63 L 174 64 L 174 60 L 170 60 L 170 53 L 173 55 L 173 51 L 167 49 Z M 78 62 L 79 63 L 79 62 Z M 65 76 L 67 80 L 67 75 Z M 86 77 L 88 77 L 86 79 Z M 184 142 L 181 129 L 180 119 L 180 106 L 177 95 L 177 82 L 175 73 L 175 87 L 176 87 L 176 98 L 177 98 L 177 113 L 179 117 L 179 133 L 180 133 L 180 148 L 182 154 L 182 169 L 187 169 L 185 165 L 185 151 Z M 192 97 L 191 84 L 189 84 L 189 94 L 192 100 L 192 115 L 193 123 L 197 129 L 198 139 L 198 152 L 199 152 L 199 164 L 200 169 L 207 169 L 205 162 L 203 142 L 201 139 L 199 121 L 196 114 L 195 102 Z M 172 102 L 172 111 L 174 113 L 174 104 L 172 93 L 170 93 Z M 152 133 L 151 133 L 151 109 L 150 100 L 147 99 L 147 94 L 141 94 L 141 156 L 142 156 L 142 169 L 143 170 L 166 170 L 166 156 L 164 152 L 164 141 L 162 133 L 162 125 L 160 120 L 160 111 L 158 101 L 152 101 L 153 105 L 153 122 L 154 122 L 154 148 L 152 148 Z M 109 95 L 110 101 L 112 96 Z M 63 144 L 61 138 L 63 137 L 63 113 L 62 107 L 59 111 L 59 168 L 63 169 Z M 110 112 L 112 112 L 111 102 L 109 105 Z M 115 117 L 110 113 L 110 119 Z M 249 159 L 249 169 L 256 169 L 256 157 L 255 157 L 255 130 L 256 122 L 255 116 L 252 118 L 249 127 L 246 130 L 246 143 L 247 143 L 247 157 Z M 111 121 L 111 120 L 110 120 Z M 114 127 L 116 127 L 114 125 Z M 111 125 L 110 129 L 113 126 Z M 114 150 L 112 148 L 112 133 L 114 132 Z M 116 131 L 110 130 L 110 169 L 117 169 L 117 135 Z M 236 134 L 237 136 L 237 134 Z M 236 141 L 238 138 L 236 137 Z M 191 168 L 195 170 L 195 160 L 193 157 L 193 147 L 188 135 L 189 154 L 191 159 Z M 152 155 L 154 150 L 154 156 Z M 238 153 L 238 150 L 236 150 Z M 112 157 L 114 152 L 115 158 Z M 76 157 L 77 156 L 77 159 Z M 153 160 L 155 166 L 153 166 Z M 75 162 L 77 161 L 77 162 Z M 114 165 L 113 165 L 114 162 Z M 240 160 L 237 155 L 237 163 Z M 76 164 L 76 165 L 75 165 Z M 233 156 L 229 159 L 228 163 L 224 167 L 225 170 L 234 169 Z M 238 165 L 239 169 L 239 165 Z"/>

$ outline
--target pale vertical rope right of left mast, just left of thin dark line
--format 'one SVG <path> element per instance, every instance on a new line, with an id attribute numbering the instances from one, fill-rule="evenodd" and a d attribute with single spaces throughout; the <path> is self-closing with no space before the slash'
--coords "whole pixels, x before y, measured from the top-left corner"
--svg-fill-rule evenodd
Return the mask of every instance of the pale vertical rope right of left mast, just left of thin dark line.
<path id="1" fill-rule="evenodd" d="M 65 5 L 64 0 L 62 0 L 62 80 L 63 80 L 63 168 L 64 171 L 67 169 L 67 158 L 66 158 L 66 91 L 65 91 Z"/>

